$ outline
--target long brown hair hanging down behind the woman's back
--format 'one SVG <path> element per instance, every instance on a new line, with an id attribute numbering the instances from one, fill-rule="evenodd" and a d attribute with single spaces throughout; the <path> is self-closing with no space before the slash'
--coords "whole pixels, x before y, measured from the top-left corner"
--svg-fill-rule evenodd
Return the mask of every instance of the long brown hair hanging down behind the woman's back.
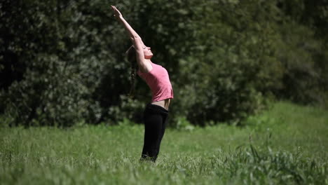
<path id="1" fill-rule="evenodd" d="M 128 48 L 128 50 L 125 52 L 125 55 L 128 57 L 128 61 L 131 64 L 131 72 L 130 72 L 130 79 L 131 79 L 131 87 L 130 87 L 130 93 L 129 97 L 134 98 L 135 97 L 135 75 L 137 74 L 137 59 L 135 54 L 135 46 L 131 46 Z"/>

